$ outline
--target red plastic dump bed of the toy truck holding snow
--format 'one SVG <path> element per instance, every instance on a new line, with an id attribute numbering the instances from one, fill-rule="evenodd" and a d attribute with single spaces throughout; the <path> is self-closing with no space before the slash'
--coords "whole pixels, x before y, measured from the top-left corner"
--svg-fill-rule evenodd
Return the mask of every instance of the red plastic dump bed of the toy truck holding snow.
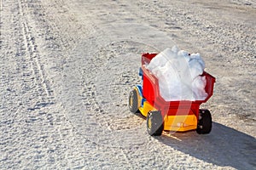
<path id="1" fill-rule="evenodd" d="M 148 64 L 151 59 L 154 58 L 156 54 L 143 54 L 142 55 L 142 69 L 143 69 L 143 98 L 154 105 L 154 108 L 168 113 L 168 115 L 177 115 L 177 114 L 195 114 L 198 116 L 199 106 L 202 103 L 207 102 L 213 94 L 213 86 L 215 82 L 215 77 L 208 74 L 206 71 L 203 72 L 202 76 L 205 76 L 207 79 L 206 92 L 208 94 L 207 99 L 204 100 L 195 100 L 195 101 L 166 101 L 160 96 L 159 82 L 154 75 L 148 71 L 145 67 L 145 64 Z M 181 111 L 177 113 L 177 111 Z"/>

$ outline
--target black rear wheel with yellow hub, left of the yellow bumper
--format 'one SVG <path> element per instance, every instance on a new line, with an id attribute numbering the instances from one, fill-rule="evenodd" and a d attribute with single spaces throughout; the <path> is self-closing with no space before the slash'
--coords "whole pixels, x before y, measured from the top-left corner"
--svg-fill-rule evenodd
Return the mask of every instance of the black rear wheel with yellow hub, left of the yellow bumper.
<path id="1" fill-rule="evenodd" d="M 148 111 L 147 130 L 151 136 L 160 136 L 164 130 L 164 123 L 160 111 Z"/>

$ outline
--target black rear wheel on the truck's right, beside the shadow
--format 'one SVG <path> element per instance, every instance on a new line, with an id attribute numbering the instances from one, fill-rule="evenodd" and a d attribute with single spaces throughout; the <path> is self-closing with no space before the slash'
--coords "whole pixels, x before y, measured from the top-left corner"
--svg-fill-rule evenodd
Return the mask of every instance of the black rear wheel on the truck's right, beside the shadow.
<path id="1" fill-rule="evenodd" d="M 212 116 L 208 110 L 199 111 L 199 121 L 197 123 L 196 132 L 199 134 L 207 134 L 212 130 Z"/>

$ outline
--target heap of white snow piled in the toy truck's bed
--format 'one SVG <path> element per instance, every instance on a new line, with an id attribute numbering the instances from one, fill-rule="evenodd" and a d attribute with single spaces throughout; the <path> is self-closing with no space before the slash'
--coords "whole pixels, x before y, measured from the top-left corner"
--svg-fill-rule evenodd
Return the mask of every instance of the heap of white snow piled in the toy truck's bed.
<path id="1" fill-rule="evenodd" d="M 166 48 L 146 68 L 159 79 L 160 95 L 166 101 L 207 98 L 206 77 L 201 76 L 205 62 L 200 54 L 189 54 L 176 46 Z"/>

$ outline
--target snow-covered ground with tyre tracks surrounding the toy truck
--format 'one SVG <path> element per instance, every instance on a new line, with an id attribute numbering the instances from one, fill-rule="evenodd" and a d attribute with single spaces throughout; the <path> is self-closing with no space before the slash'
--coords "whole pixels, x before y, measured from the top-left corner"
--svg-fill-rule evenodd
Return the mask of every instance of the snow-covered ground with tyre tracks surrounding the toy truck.
<path id="1" fill-rule="evenodd" d="M 256 3 L 0 0 L 0 169 L 255 169 Z M 127 106 L 140 54 L 217 78 L 209 135 L 153 138 Z"/>

